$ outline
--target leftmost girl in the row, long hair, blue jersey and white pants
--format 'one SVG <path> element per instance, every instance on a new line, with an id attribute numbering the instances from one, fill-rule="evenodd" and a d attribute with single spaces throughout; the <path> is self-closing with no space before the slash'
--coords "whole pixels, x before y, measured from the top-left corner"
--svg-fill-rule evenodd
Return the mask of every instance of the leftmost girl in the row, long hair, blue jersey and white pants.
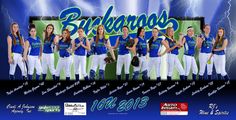
<path id="1" fill-rule="evenodd" d="M 20 34 L 19 25 L 17 23 L 12 23 L 10 29 L 11 33 L 7 36 L 8 63 L 10 65 L 9 79 L 15 79 L 14 74 L 16 65 L 18 65 L 21 69 L 22 79 L 25 80 L 27 78 L 27 69 L 22 58 L 24 38 Z"/>

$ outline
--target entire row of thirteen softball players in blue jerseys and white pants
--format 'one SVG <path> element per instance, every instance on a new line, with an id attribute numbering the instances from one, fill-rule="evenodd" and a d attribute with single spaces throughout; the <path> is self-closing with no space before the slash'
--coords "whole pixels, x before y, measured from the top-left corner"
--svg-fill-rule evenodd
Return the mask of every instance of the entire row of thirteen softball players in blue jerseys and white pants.
<path id="1" fill-rule="evenodd" d="M 14 80 L 14 74 L 16 66 L 20 67 L 22 73 L 22 79 L 33 79 L 34 69 L 36 69 L 36 80 L 45 80 L 48 69 L 51 72 L 54 80 L 60 79 L 60 73 L 64 69 L 66 80 L 70 80 L 71 75 L 71 59 L 72 53 L 74 53 L 74 71 L 75 79 L 80 79 L 80 73 L 84 80 L 95 80 L 96 71 L 99 69 L 98 79 L 105 79 L 105 58 L 109 51 L 112 58 L 115 60 L 113 49 L 118 48 L 118 59 L 116 63 L 116 76 L 118 80 L 121 80 L 121 71 L 124 66 L 125 80 L 129 80 L 131 54 L 138 57 L 139 66 L 133 66 L 133 80 L 139 79 L 140 72 L 142 73 L 142 79 L 148 80 L 150 78 L 150 72 L 154 68 L 156 79 L 161 80 L 161 57 L 168 53 L 167 63 L 168 72 L 167 80 L 172 79 L 174 66 L 177 68 L 180 75 L 180 80 L 187 80 L 190 70 L 192 70 L 192 79 L 197 79 L 198 67 L 194 56 L 196 55 L 196 47 L 199 49 L 199 80 L 203 80 L 204 72 L 207 67 L 207 79 L 212 79 L 213 64 L 216 69 L 217 77 L 219 80 L 229 80 L 227 72 L 225 70 L 226 58 L 225 50 L 228 45 L 228 40 L 225 37 L 225 30 L 219 28 L 217 35 L 214 38 L 210 32 L 210 25 L 205 25 L 203 33 L 198 35 L 195 40 L 194 29 L 192 26 L 187 28 L 187 35 L 183 36 L 179 34 L 179 41 L 174 39 L 174 29 L 168 27 L 166 34 L 162 34 L 157 28 L 152 29 L 152 37 L 147 42 L 145 39 L 145 30 L 140 27 L 137 30 L 137 37 L 134 39 L 132 47 L 126 46 L 127 42 L 130 42 L 132 38 L 129 35 L 128 26 L 123 26 L 123 35 L 119 36 L 116 43 L 111 47 L 109 38 L 105 37 L 105 29 L 103 25 L 98 25 L 96 36 L 89 41 L 84 34 L 84 29 L 80 27 L 78 29 L 78 38 L 71 40 L 70 32 L 68 29 L 62 31 L 62 35 L 59 37 L 54 34 L 54 26 L 48 24 L 43 33 L 43 46 L 40 38 L 36 35 L 36 28 L 34 24 L 29 26 L 29 38 L 24 41 L 23 36 L 19 32 L 19 25 L 12 23 L 10 26 L 11 33 L 7 36 L 8 43 L 8 63 L 10 65 L 9 79 Z M 159 32 L 164 35 L 164 39 L 159 37 Z M 60 40 L 59 40 L 60 39 Z M 161 53 L 162 45 L 166 50 Z M 178 50 L 184 46 L 183 63 L 184 68 L 178 58 Z M 56 70 L 54 68 L 54 52 L 59 51 L 59 60 Z M 92 53 L 92 67 L 90 69 L 89 77 L 86 72 L 86 55 Z M 149 53 L 149 61 L 147 59 L 147 53 Z M 22 56 L 23 54 L 23 56 Z M 41 61 L 42 56 L 42 61 Z M 26 63 L 28 70 L 26 68 Z"/>

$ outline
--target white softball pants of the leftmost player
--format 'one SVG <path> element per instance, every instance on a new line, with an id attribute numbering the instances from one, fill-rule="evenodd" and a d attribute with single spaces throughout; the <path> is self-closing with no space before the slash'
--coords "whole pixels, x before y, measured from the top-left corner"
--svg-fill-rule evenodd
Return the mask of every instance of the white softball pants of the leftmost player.
<path id="1" fill-rule="evenodd" d="M 27 68 L 23 62 L 22 55 L 19 53 L 13 53 L 13 61 L 14 62 L 10 64 L 9 74 L 14 75 L 16 71 L 16 65 L 18 65 L 20 67 L 22 76 L 27 76 Z"/>

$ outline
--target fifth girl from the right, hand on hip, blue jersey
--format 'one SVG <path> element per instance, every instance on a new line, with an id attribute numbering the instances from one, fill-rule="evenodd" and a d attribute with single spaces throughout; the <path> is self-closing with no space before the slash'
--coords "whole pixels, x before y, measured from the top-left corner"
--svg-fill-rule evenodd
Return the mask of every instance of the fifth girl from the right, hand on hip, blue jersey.
<path id="1" fill-rule="evenodd" d="M 156 80 L 161 80 L 161 56 L 163 56 L 169 49 L 169 46 L 163 38 L 158 37 L 159 30 L 157 28 L 152 29 L 152 37 L 148 41 L 149 51 L 149 63 L 148 63 L 148 76 L 150 76 L 151 70 L 154 67 L 156 71 Z M 166 47 L 166 50 L 161 53 L 161 45 Z"/>

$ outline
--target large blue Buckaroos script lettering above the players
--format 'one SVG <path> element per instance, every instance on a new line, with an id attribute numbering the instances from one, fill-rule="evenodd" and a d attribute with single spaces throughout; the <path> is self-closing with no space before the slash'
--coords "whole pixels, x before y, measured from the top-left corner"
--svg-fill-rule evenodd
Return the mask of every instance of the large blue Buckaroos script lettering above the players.
<path id="1" fill-rule="evenodd" d="M 138 27 L 148 27 L 152 29 L 155 26 L 158 26 L 160 29 L 165 29 L 167 26 L 172 25 L 174 30 L 176 31 L 179 27 L 178 21 L 174 18 L 169 18 L 167 11 L 163 10 L 160 16 L 158 17 L 156 13 L 152 13 L 150 16 L 146 14 L 141 14 L 140 16 L 135 15 L 121 15 L 117 18 L 110 17 L 111 12 L 113 10 L 113 6 L 110 6 L 103 16 L 96 17 L 94 20 L 92 18 L 81 19 L 80 24 L 77 26 L 75 23 L 76 20 L 80 19 L 82 16 L 82 11 L 78 7 L 70 7 L 64 9 L 60 15 L 59 19 L 61 20 L 63 29 L 70 29 L 71 35 L 75 34 L 79 27 L 83 27 L 85 33 L 92 30 L 92 34 L 96 34 L 94 29 L 95 26 L 99 24 L 103 24 L 107 33 L 118 32 L 122 29 L 124 25 L 129 26 L 130 30 L 136 30 Z"/>

